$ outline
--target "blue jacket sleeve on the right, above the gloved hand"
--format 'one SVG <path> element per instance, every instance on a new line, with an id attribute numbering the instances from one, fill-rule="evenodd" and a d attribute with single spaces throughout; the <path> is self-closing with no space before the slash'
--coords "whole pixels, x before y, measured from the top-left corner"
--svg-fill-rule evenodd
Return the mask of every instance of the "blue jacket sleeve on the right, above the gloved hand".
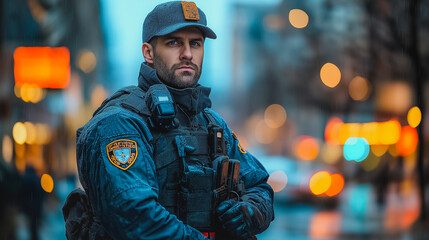
<path id="1" fill-rule="evenodd" d="M 240 179 L 246 187 L 246 192 L 242 196 L 243 201 L 255 206 L 264 216 L 258 229 L 254 230 L 259 234 L 274 220 L 274 192 L 267 183 L 269 174 L 262 164 L 239 144 L 238 138 L 225 121 L 214 111 L 211 110 L 211 113 L 225 131 L 229 158 L 240 161 Z"/>

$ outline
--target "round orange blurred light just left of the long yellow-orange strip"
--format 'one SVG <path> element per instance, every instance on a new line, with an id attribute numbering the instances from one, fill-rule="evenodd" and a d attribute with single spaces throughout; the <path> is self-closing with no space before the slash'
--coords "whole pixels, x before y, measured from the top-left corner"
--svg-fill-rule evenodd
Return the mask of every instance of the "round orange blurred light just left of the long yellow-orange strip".
<path id="1" fill-rule="evenodd" d="M 319 143 L 311 136 L 299 136 L 293 149 L 295 155 L 303 160 L 313 160 L 319 155 Z"/>

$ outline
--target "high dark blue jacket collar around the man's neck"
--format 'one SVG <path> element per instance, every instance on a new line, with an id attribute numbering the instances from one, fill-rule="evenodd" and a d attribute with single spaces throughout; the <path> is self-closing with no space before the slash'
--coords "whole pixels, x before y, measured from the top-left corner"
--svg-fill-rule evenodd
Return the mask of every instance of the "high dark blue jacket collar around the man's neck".
<path id="1" fill-rule="evenodd" d="M 156 70 L 149 67 L 146 62 L 141 64 L 138 86 L 145 92 L 155 84 L 163 84 L 156 74 Z M 191 88 L 177 89 L 167 86 L 168 91 L 176 104 L 188 114 L 195 115 L 204 108 L 211 107 L 209 98 L 211 89 L 200 84 Z"/>

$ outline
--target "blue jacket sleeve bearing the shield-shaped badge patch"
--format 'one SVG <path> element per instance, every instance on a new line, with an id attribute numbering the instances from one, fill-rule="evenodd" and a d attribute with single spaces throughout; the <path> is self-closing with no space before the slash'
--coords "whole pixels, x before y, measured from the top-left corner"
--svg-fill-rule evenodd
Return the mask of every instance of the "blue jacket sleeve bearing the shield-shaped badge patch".
<path id="1" fill-rule="evenodd" d="M 141 118 L 123 112 L 100 118 L 77 139 L 78 167 L 95 215 L 110 236 L 205 239 L 158 203 L 153 149 L 149 144 L 152 136 Z M 125 155 L 117 158 L 128 160 L 125 164 L 114 160 L 113 156 L 121 156 L 121 152 L 108 148 L 115 141 L 135 142 L 130 151 L 125 150 Z"/>

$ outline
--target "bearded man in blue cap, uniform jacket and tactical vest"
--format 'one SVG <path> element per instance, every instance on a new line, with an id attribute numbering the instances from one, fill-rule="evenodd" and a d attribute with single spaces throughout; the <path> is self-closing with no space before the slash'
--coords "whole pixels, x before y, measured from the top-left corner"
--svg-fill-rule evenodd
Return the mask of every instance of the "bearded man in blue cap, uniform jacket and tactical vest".
<path id="1" fill-rule="evenodd" d="M 195 3 L 155 7 L 143 24 L 138 87 L 106 99 L 77 131 L 90 207 L 76 211 L 93 211 L 114 239 L 251 239 L 274 218 L 267 172 L 198 84 L 206 38 L 216 34 Z M 70 218 L 82 214 L 70 199 L 72 238 Z"/>

